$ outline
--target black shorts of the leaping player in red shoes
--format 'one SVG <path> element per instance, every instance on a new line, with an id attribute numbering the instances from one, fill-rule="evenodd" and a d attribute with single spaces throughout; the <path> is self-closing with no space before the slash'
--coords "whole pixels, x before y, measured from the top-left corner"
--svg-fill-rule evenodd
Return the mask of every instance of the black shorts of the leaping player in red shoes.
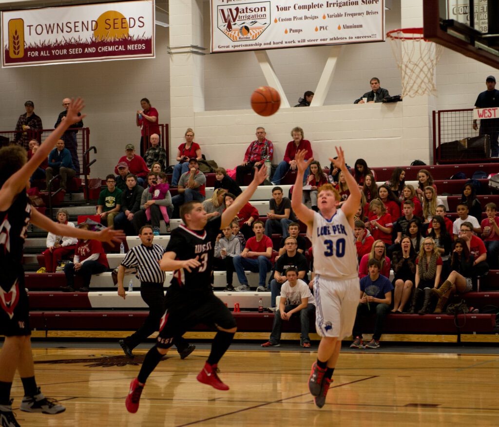
<path id="1" fill-rule="evenodd" d="M 168 290 L 165 306 L 156 343 L 160 348 L 170 348 L 174 337 L 184 335 L 199 323 L 213 329 L 232 329 L 237 326 L 232 313 L 212 291 L 191 299 L 182 291 Z"/>

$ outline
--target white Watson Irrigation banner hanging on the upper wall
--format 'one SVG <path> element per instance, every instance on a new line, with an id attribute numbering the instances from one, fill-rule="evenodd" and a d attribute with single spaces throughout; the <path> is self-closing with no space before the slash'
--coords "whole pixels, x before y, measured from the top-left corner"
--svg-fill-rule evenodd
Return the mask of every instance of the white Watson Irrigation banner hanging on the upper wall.
<path id="1" fill-rule="evenodd" d="M 385 40 L 384 0 L 211 0 L 211 51 Z"/>

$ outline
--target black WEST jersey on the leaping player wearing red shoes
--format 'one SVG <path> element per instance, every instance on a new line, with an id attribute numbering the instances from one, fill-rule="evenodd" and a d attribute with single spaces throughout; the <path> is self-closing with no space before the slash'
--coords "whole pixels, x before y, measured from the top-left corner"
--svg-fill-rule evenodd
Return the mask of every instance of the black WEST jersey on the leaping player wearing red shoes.
<path id="1" fill-rule="evenodd" d="M 175 259 L 186 260 L 198 257 L 201 265 L 191 268 L 191 272 L 181 268 L 173 272 L 172 286 L 186 289 L 211 289 L 211 271 L 215 256 L 215 242 L 220 233 L 222 218 L 210 221 L 204 230 L 191 230 L 180 225 L 172 231 L 170 241 L 165 252 L 175 252 Z"/>

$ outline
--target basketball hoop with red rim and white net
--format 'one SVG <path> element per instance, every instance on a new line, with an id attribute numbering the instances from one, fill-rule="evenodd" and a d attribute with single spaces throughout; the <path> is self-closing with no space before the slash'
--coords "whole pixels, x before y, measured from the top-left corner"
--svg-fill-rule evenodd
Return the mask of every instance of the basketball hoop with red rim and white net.
<path id="1" fill-rule="evenodd" d="M 426 40 L 423 28 L 400 28 L 386 33 L 402 77 L 402 98 L 436 95 L 435 67 L 442 46 Z"/>

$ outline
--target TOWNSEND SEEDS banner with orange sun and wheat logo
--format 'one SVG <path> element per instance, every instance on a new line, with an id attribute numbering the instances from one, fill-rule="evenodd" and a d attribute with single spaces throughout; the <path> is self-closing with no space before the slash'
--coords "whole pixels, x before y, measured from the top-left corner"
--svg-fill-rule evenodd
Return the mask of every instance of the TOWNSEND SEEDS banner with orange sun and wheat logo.
<path id="1" fill-rule="evenodd" d="M 154 58 L 154 0 L 1 12 L 2 67 Z"/>

